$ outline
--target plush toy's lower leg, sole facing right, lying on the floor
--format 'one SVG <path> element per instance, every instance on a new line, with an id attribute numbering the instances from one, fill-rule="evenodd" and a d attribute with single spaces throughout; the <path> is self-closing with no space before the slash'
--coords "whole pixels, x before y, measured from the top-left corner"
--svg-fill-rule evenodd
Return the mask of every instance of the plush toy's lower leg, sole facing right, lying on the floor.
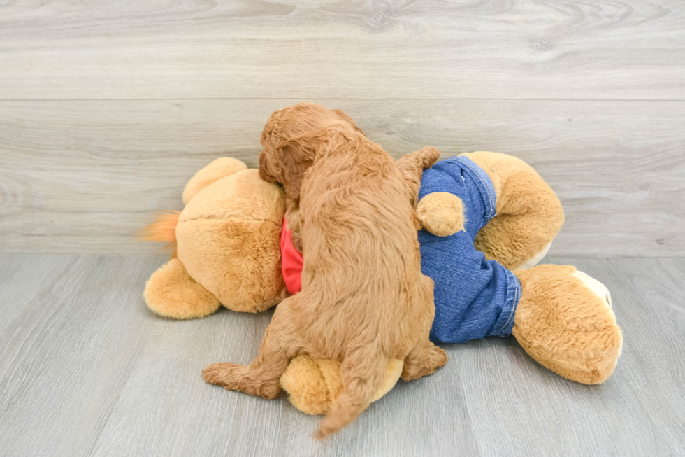
<path id="1" fill-rule="evenodd" d="M 521 300 L 512 333 L 538 363 L 582 384 L 600 384 L 616 366 L 623 337 L 607 288 L 575 267 L 514 272 Z"/>

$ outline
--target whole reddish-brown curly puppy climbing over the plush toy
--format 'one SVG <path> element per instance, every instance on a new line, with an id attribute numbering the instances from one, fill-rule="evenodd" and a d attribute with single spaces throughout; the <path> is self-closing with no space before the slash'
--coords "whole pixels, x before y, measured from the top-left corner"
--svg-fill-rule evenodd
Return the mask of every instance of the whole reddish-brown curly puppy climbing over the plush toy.
<path id="1" fill-rule="evenodd" d="M 286 220 L 304 255 L 302 290 L 281 302 L 250 365 L 215 363 L 204 378 L 274 398 L 300 353 L 341 360 L 344 390 L 318 437 L 368 407 L 389 359 L 405 381 L 445 365 L 428 340 L 433 281 L 421 274 L 414 211 L 426 147 L 395 162 L 343 111 L 302 103 L 276 111 L 261 136 L 259 174 L 283 185 Z"/>

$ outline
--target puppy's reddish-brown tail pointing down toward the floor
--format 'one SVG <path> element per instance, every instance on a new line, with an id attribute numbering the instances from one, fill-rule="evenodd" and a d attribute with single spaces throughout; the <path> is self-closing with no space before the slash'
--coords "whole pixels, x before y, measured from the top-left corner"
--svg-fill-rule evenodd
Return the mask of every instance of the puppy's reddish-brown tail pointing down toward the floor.
<path id="1" fill-rule="evenodd" d="M 343 377 L 343 391 L 331 407 L 331 412 L 322 421 L 317 439 L 337 432 L 354 422 L 368 405 L 377 391 L 382 388 L 388 366 L 388 358 L 382 351 L 365 347 L 348 352 L 340 365 Z"/>

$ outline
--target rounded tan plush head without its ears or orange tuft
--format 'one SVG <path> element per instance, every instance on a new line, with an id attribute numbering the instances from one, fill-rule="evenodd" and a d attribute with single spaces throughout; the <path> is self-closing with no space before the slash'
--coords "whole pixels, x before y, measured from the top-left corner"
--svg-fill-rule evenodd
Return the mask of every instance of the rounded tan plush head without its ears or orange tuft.
<path id="1" fill-rule="evenodd" d="M 259 312 L 286 295 L 280 266 L 281 188 L 245 169 L 208 185 L 179 216 L 178 258 L 225 307 Z"/>

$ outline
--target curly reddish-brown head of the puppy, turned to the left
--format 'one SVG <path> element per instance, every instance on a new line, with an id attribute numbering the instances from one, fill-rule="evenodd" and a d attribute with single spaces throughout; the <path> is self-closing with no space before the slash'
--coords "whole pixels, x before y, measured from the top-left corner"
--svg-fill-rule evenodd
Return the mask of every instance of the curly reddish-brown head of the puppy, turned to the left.
<path id="1" fill-rule="evenodd" d="M 364 132 L 343 110 L 299 103 L 274 111 L 261 132 L 259 176 L 280 183 L 290 199 L 298 200 L 306 169 L 322 143 L 336 132 Z"/>

